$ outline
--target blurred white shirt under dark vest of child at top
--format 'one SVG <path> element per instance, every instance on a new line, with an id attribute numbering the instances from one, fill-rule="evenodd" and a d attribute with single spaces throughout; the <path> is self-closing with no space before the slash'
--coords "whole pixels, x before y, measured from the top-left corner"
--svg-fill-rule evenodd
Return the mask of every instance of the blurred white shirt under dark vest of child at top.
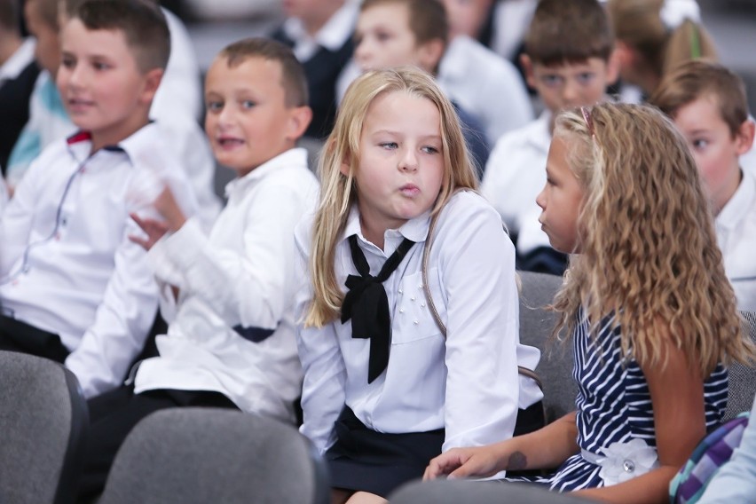
<path id="1" fill-rule="evenodd" d="M 328 51 L 338 51 L 349 40 L 354 32 L 359 10 L 358 0 L 345 0 L 338 11 L 334 12 L 318 30 L 311 36 L 304 28 L 304 23 L 299 18 L 287 18 L 283 23 L 283 31 L 287 37 L 294 41 L 294 55 L 299 61 L 311 59 L 319 48 Z"/>

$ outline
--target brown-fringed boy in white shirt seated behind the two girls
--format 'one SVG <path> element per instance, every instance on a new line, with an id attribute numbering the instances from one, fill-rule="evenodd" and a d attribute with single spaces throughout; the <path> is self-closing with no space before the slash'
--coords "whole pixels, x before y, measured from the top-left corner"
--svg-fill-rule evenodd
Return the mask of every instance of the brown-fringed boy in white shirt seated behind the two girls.
<path id="1" fill-rule="evenodd" d="M 566 256 L 548 246 L 539 229 L 535 197 L 546 183 L 554 117 L 563 108 L 593 105 L 617 78 L 614 39 L 598 0 L 542 0 L 525 38 L 528 83 L 546 109 L 531 124 L 502 136 L 486 165 L 481 191 L 516 240 L 520 269 L 562 274 Z M 525 228 L 535 236 L 520 240 Z"/>

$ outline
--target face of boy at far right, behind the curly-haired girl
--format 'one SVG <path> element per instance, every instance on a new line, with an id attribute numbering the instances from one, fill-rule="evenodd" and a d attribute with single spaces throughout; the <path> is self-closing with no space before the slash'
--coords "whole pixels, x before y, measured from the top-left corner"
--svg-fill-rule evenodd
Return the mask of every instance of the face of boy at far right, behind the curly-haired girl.
<path id="1" fill-rule="evenodd" d="M 744 122 L 733 135 L 712 94 L 681 106 L 674 123 L 688 141 L 715 209 L 721 210 L 740 184 L 738 158 L 751 148 L 752 123 Z"/>

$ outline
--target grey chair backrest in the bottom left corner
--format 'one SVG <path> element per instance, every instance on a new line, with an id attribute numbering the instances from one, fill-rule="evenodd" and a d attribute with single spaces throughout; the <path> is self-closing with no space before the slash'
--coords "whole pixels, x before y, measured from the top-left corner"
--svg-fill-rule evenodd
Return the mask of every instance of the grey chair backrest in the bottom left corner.
<path id="1" fill-rule="evenodd" d="M 88 428 L 73 373 L 0 350 L 0 502 L 74 502 Z"/>

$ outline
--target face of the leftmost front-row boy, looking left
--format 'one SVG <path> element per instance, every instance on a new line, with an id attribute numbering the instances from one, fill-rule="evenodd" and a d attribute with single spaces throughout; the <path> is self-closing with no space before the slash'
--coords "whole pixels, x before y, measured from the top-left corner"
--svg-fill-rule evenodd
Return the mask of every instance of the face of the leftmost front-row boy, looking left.
<path id="1" fill-rule="evenodd" d="M 95 149 L 144 126 L 162 71 L 143 74 L 121 30 L 89 30 L 70 20 L 61 53 L 60 96 L 76 126 L 91 132 Z"/>

